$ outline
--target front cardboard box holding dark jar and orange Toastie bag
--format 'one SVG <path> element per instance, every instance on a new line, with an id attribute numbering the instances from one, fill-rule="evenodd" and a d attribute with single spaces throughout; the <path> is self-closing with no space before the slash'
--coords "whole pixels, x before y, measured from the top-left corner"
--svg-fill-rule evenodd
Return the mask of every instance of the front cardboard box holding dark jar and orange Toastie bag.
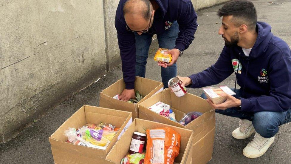
<path id="1" fill-rule="evenodd" d="M 147 130 L 164 127 L 170 127 L 182 136 L 179 155 L 175 158 L 175 163 L 189 164 L 192 159 L 191 138 L 193 137 L 193 131 L 143 119 L 135 119 L 126 130 L 126 132 L 121 136 L 120 140 L 116 142 L 112 150 L 107 155 L 108 163 L 119 164 L 121 159 L 126 156 L 129 151 L 131 138 L 135 131 L 146 134 L 145 129 Z"/>

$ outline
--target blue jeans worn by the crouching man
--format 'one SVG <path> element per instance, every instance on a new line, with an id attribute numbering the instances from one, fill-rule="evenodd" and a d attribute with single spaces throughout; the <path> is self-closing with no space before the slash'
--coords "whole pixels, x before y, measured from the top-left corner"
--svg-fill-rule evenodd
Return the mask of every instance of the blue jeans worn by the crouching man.
<path id="1" fill-rule="evenodd" d="M 234 89 L 232 90 L 234 91 Z M 204 93 L 200 97 L 207 99 Z M 236 90 L 236 95 L 234 95 L 234 97 L 241 97 L 240 90 Z M 228 108 L 226 110 L 216 109 L 215 112 L 252 121 L 256 132 L 265 138 L 274 137 L 279 130 L 279 126 L 291 122 L 291 109 L 285 112 L 261 111 L 254 113 L 237 111 L 236 108 Z"/>

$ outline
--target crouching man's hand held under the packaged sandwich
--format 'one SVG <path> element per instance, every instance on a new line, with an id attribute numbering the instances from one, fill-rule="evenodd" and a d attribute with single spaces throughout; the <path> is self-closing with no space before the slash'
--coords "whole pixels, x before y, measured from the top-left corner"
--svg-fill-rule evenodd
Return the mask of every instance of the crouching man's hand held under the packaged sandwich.
<path id="1" fill-rule="evenodd" d="M 212 106 L 213 109 L 221 109 L 221 110 L 225 110 L 227 108 L 232 108 L 232 107 L 238 107 L 242 104 L 240 99 L 236 99 L 235 97 L 229 94 L 220 94 L 220 96 L 226 97 L 227 100 L 221 104 L 213 104 L 213 102 L 211 102 L 210 99 L 207 99 L 206 101 Z"/>

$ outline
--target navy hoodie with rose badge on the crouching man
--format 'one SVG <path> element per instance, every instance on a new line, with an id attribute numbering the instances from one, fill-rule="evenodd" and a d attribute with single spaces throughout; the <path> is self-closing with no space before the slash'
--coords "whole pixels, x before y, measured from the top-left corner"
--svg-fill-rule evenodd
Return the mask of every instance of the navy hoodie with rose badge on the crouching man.
<path id="1" fill-rule="evenodd" d="M 258 37 L 249 57 L 244 55 L 242 47 L 224 47 L 214 65 L 189 76 L 191 88 L 216 85 L 235 72 L 237 84 L 241 86 L 242 111 L 279 112 L 290 109 L 290 48 L 271 33 L 269 24 L 257 22 L 256 30 Z"/>

